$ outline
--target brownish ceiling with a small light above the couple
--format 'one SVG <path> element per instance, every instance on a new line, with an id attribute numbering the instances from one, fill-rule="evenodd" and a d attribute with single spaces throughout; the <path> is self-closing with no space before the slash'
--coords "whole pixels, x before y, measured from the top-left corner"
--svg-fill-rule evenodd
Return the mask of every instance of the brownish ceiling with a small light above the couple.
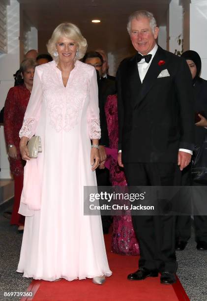
<path id="1" fill-rule="evenodd" d="M 52 31 L 64 21 L 76 24 L 86 37 L 89 50 L 115 52 L 129 47 L 128 16 L 138 10 L 151 11 L 158 25 L 166 24 L 170 0 L 19 0 L 21 9 L 38 31 L 38 50 L 46 52 Z M 92 24 L 92 19 L 101 23 Z"/>

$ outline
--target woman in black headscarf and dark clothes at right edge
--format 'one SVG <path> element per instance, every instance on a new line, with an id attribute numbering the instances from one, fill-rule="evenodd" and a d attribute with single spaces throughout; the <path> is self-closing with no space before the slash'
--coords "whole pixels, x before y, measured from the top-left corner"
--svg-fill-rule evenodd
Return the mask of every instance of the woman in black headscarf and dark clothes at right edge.
<path id="1" fill-rule="evenodd" d="M 195 145 L 201 147 L 207 129 L 207 81 L 201 78 L 201 58 L 193 50 L 185 51 L 182 55 L 190 68 L 193 81 L 194 110 L 198 119 L 195 123 Z M 203 114 L 203 115 L 202 115 Z M 195 182 L 191 179 L 191 165 L 182 172 L 184 185 L 203 186 L 205 184 Z M 194 215 L 195 240 L 198 250 L 207 250 L 207 215 Z M 191 217 L 177 216 L 176 223 L 176 249 L 184 250 L 191 236 Z"/>

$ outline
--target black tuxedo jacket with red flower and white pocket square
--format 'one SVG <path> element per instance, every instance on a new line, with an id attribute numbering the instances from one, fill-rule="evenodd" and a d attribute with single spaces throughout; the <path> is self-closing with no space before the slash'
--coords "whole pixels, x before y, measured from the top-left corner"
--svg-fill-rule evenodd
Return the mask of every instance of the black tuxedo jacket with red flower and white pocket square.
<path id="1" fill-rule="evenodd" d="M 179 148 L 194 148 L 189 67 L 184 59 L 158 46 L 141 83 L 136 56 L 123 60 L 117 73 L 122 161 L 177 162 Z M 170 76 L 159 78 L 166 69 Z"/>

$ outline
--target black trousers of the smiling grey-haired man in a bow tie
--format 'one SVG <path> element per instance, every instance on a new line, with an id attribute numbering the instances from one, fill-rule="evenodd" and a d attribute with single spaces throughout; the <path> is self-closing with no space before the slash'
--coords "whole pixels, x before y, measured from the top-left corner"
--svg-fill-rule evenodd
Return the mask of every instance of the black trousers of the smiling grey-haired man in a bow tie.
<path id="1" fill-rule="evenodd" d="M 130 186 L 180 185 L 181 172 L 176 163 L 125 163 Z M 175 216 L 132 216 L 140 246 L 139 267 L 160 272 L 177 271 Z"/>

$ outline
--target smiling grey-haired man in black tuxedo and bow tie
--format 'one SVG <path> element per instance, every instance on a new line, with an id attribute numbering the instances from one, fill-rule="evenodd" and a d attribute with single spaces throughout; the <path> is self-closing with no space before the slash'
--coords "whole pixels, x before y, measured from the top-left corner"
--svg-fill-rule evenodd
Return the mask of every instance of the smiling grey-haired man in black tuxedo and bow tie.
<path id="1" fill-rule="evenodd" d="M 118 68 L 118 164 L 130 186 L 180 184 L 193 150 L 193 87 L 185 60 L 156 44 L 151 13 L 137 11 L 127 30 L 137 54 Z M 139 270 L 130 280 L 176 282 L 175 217 L 132 216 L 140 245 Z"/>

